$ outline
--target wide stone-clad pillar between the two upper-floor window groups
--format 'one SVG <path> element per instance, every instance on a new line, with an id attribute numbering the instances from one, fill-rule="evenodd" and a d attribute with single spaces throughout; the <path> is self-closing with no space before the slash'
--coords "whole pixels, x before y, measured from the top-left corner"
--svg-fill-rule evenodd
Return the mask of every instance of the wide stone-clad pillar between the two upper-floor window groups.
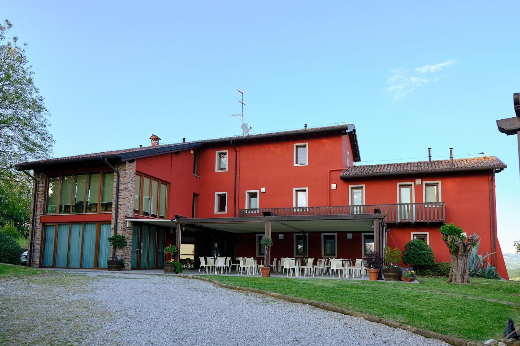
<path id="1" fill-rule="evenodd" d="M 135 161 L 119 162 L 114 164 L 116 170 L 119 171 L 119 210 L 118 210 L 118 234 L 123 234 L 126 238 L 126 246 L 118 247 L 116 256 L 121 257 L 125 261 L 124 270 L 130 270 L 132 265 L 132 230 L 133 227 L 126 227 L 126 218 L 134 216 L 134 186 L 135 186 Z M 114 173 L 114 190 L 112 201 L 115 203 L 115 190 L 117 184 L 117 174 Z M 115 224 L 115 208 L 112 208 L 112 226 L 111 234 L 114 234 Z M 112 256 L 112 252 L 110 252 Z"/>

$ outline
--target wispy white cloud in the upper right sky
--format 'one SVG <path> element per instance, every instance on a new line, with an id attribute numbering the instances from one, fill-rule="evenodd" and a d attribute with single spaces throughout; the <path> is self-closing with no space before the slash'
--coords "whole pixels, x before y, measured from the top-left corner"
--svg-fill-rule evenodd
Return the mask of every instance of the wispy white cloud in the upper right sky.
<path id="1" fill-rule="evenodd" d="M 415 67 L 411 70 L 406 70 L 405 68 L 391 70 L 392 76 L 387 78 L 389 86 L 386 88 L 386 91 L 392 93 L 395 100 L 402 99 L 405 95 L 424 84 L 436 82 L 444 78 L 446 75 L 438 75 L 437 73 L 456 62 L 456 60 L 447 60 L 438 64 L 426 64 L 421 67 Z"/>

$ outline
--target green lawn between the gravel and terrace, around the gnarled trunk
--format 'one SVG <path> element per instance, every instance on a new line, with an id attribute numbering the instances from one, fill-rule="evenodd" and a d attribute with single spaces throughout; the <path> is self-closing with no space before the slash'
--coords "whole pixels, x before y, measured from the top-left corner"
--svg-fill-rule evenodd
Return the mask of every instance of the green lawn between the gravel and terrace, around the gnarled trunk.
<path id="1" fill-rule="evenodd" d="M 510 317 L 520 322 L 520 282 L 471 278 L 448 284 L 201 275 L 242 287 L 317 300 L 473 341 L 503 338 Z"/>

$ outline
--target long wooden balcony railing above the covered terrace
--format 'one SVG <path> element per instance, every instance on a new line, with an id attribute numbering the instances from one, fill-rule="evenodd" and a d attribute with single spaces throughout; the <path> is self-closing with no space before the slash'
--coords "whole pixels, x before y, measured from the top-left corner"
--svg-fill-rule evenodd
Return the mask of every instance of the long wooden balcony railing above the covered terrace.
<path id="1" fill-rule="evenodd" d="M 240 209 L 238 216 L 264 216 L 265 214 L 277 216 L 301 216 L 376 213 L 386 214 L 386 223 L 429 224 L 431 222 L 446 222 L 444 202 Z"/>

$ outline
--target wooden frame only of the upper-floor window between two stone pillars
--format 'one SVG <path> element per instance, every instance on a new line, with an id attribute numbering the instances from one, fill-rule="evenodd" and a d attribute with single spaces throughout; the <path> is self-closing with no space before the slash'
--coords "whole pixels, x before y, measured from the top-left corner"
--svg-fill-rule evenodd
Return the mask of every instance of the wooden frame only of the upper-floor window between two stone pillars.
<path id="1" fill-rule="evenodd" d="M 101 186 L 102 186 L 102 180 L 103 180 L 103 173 L 110 173 L 110 172 L 114 172 L 114 171 L 111 171 L 111 170 L 86 170 L 86 171 L 79 171 L 79 172 L 57 172 L 57 173 L 53 173 L 53 174 L 49 174 L 46 176 L 45 178 L 45 200 L 44 200 L 44 205 L 43 205 L 43 215 L 82 215 L 82 214 L 107 214 L 107 213 L 112 213 L 112 211 L 109 211 L 109 212 L 101 212 L 100 211 L 100 207 L 101 207 Z M 88 174 L 89 173 L 99 173 L 99 186 L 98 186 L 98 202 L 97 202 L 97 211 L 96 212 L 90 212 L 90 213 L 86 213 L 86 207 L 87 207 L 87 203 L 86 203 L 86 198 L 87 198 L 87 184 L 86 184 L 86 181 L 87 181 L 87 177 L 88 177 Z M 83 213 L 72 213 L 72 198 L 74 196 L 74 176 L 75 175 L 79 175 L 79 174 L 85 174 L 85 190 L 84 190 L 84 196 L 85 196 L 85 203 L 83 204 Z M 72 184 L 71 184 L 71 193 L 70 193 L 70 213 L 59 213 L 59 207 L 60 207 L 60 196 L 61 196 L 61 177 L 63 175 L 72 175 Z M 56 202 L 56 213 L 47 213 L 47 203 L 48 203 L 48 190 L 49 190 L 49 179 L 50 178 L 56 178 L 58 177 L 58 196 L 57 196 L 57 202 Z M 112 186 L 112 190 L 113 190 L 113 186 Z M 112 201 L 113 203 L 114 201 Z"/>

